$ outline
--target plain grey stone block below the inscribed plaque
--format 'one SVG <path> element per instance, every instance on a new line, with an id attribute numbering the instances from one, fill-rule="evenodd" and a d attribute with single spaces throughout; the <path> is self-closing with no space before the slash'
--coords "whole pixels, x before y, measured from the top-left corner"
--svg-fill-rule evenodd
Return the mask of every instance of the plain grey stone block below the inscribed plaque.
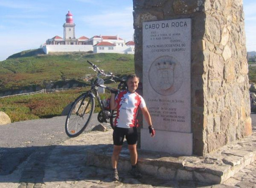
<path id="1" fill-rule="evenodd" d="M 148 129 L 140 129 L 141 149 L 167 152 L 178 155 L 193 154 L 193 133 L 156 130 L 156 136 L 150 137 Z"/>

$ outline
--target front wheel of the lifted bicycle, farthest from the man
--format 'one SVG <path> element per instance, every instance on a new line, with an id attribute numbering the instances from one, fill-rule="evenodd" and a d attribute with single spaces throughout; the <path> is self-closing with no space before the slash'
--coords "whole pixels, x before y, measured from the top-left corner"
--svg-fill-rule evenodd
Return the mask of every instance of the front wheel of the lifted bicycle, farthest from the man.
<path id="1" fill-rule="evenodd" d="M 65 124 L 69 137 L 76 137 L 82 133 L 90 123 L 94 108 L 95 101 L 89 92 L 83 93 L 74 101 Z"/>

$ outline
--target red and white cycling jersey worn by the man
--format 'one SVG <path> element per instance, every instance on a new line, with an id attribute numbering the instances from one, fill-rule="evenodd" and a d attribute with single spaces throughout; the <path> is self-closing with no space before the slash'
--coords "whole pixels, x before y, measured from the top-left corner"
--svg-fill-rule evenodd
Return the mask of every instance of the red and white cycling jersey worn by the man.
<path id="1" fill-rule="evenodd" d="M 121 128 L 131 128 L 136 126 L 136 115 L 138 107 L 146 106 L 144 99 L 137 93 L 130 93 L 127 90 L 120 91 L 116 96 L 117 116 L 115 126 Z"/>

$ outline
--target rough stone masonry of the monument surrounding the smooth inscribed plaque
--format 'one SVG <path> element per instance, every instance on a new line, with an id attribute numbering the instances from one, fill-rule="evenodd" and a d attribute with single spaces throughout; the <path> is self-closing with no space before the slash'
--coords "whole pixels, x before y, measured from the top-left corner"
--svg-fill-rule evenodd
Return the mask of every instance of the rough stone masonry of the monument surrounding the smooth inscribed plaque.
<path id="1" fill-rule="evenodd" d="M 142 85 L 142 23 L 178 18 L 192 19 L 193 153 L 205 155 L 233 140 L 250 135 L 243 1 L 134 0 L 133 2 L 135 69 Z M 142 87 L 139 87 L 140 93 Z"/>

